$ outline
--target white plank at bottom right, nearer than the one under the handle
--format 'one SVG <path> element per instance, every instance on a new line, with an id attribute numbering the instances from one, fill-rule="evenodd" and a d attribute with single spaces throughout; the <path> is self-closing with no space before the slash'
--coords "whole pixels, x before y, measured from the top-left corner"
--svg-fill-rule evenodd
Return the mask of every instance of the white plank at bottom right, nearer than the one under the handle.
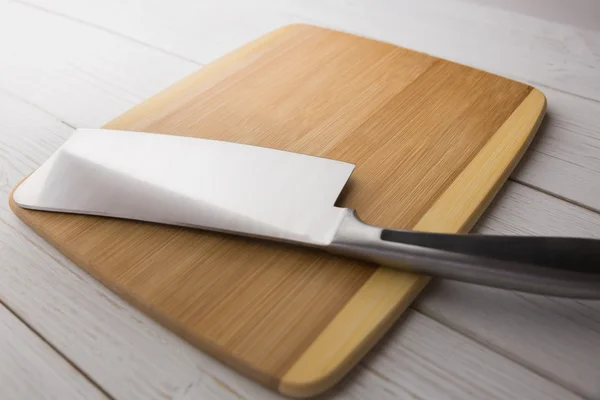
<path id="1" fill-rule="evenodd" d="M 402 385 L 404 391 L 400 393 L 407 398 L 558 400 L 573 397 L 558 387 L 544 387 L 542 378 L 531 376 L 527 369 L 516 367 L 484 345 L 473 348 L 465 336 L 421 314 L 408 313 L 404 323 L 397 326 L 378 350 L 363 367 L 382 379 Z M 490 377 L 490 368 L 497 370 L 498 375 Z M 527 377 L 522 379 L 519 374 Z M 360 379 L 357 381 L 360 384 Z M 379 398 L 363 393 L 363 398 Z"/>

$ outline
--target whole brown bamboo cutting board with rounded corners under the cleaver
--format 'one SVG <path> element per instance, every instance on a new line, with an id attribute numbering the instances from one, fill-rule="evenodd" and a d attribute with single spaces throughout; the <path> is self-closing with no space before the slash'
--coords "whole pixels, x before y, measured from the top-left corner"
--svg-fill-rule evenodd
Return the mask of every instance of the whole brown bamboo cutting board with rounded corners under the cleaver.
<path id="1" fill-rule="evenodd" d="M 523 83 L 329 29 L 291 25 L 105 125 L 357 165 L 338 206 L 367 223 L 468 231 L 545 111 Z M 193 182 L 190 182 L 193 184 Z M 90 188 L 93 190 L 93 188 Z M 193 345 L 283 394 L 337 382 L 425 276 L 268 241 L 11 208 L 35 232 Z"/>

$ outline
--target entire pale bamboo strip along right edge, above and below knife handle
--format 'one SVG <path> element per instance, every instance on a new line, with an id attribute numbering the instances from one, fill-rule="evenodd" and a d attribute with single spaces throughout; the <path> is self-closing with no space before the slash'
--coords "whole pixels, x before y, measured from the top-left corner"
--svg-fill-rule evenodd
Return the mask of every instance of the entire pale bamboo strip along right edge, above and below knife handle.
<path id="1" fill-rule="evenodd" d="M 525 154 L 545 115 L 546 104 L 544 94 L 531 88 L 413 229 L 468 232 Z M 444 223 L 440 225 L 440 221 Z M 409 283 L 403 283 L 399 289 L 399 283 L 410 275 Z M 385 334 L 429 279 L 378 268 L 282 376 L 279 392 L 291 397 L 311 397 L 335 385 Z M 356 319 L 357 314 L 366 315 L 365 324 L 348 334 L 348 316 Z"/>

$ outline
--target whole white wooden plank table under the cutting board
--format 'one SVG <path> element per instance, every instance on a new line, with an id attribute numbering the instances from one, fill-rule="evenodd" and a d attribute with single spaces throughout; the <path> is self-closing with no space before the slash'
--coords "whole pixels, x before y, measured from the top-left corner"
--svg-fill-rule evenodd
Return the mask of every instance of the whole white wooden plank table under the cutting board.
<path id="1" fill-rule="evenodd" d="M 292 22 L 540 88 L 543 127 L 476 229 L 600 237 L 595 0 L 0 0 L 0 399 L 279 397 L 80 271 L 7 196 L 74 128 Z M 600 301 L 434 282 L 324 397 L 600 399 Z"/>

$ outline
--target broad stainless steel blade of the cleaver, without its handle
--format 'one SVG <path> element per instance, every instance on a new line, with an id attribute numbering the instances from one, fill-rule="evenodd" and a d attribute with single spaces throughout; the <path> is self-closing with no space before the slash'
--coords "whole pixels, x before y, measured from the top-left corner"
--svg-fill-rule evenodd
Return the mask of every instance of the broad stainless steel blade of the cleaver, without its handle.
<path id="1" fill-rule="evenodd" d="M 354 165 L 215 140 L 79 129 L 15 191 L 24 208 L 330 243 Z"/>

